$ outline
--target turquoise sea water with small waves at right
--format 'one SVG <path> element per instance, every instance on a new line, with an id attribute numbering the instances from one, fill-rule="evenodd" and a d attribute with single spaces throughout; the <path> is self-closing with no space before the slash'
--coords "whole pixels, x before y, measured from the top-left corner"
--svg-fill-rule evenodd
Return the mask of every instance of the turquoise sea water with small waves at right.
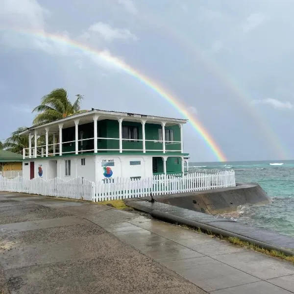
<path id="1" fill-rule="evenodd" d="M 189 163 L 189 167 L 233 169 L 237 182 L 257 182 L 271 204 L 245 209 L 237 221 L 294 236 L 294 161 Z"/>

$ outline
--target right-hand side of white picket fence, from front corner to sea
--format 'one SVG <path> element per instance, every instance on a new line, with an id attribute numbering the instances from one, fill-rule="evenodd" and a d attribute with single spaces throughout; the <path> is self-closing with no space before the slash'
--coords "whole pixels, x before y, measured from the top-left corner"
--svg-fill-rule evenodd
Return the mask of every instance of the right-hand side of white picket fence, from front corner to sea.
<path id="1" fill-rule="evenodd" d="M 142 179 L 113 178 L 96 185 L 93 201 L 187 193 L 236 186 L 234 171 L 219 173 L 158 174 Z"/>

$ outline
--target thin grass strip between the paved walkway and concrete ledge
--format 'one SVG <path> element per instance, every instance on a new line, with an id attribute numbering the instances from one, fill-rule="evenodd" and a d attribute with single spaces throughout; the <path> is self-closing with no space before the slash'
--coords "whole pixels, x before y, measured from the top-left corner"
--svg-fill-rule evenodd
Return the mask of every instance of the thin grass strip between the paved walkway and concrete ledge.
<path id="1" fill-rule="evenodd" d="M 186 225 L 186 224 L 176 223 L 176 225 L 179 225 L 179 226 L 181 226 L 181 227 L 183 227 L 185 229 L 192 230 L 194 232 L 203 233 L 203 234 L 212 236 L 214 238 L 225 240 L 227 242 L 230 242 L 231 244 L 234 244 L 234 245 L 237 245 L 237 246 L 240 246 L 240 247 L 244 247 L 244 248 L 251 249 L 251 250 L 254 250 L 254 251 L 257 251 L 257 252 L 261 252 L 261 253 L 267 254 L 269 256 L 277 257 L 277 258 L 280 258 L 280 259 L 283 259 L 283 260 L 287 260 L 287 261 L 290 261 L 291 263 L 294 264 L 294 256 L 285 255 L 281 251 L 262 248 L 262 247 L 260 247 L 258 245 L 254 245 L 252 243 L 242 241 L 237 237 L 223 237 L 223 236 L 220 236 L 220 235 L 213 234 L 211 231 L 201 230 L 200 228 L 192 227 L 192 226 L 189 226 L 189 225 Z"/>

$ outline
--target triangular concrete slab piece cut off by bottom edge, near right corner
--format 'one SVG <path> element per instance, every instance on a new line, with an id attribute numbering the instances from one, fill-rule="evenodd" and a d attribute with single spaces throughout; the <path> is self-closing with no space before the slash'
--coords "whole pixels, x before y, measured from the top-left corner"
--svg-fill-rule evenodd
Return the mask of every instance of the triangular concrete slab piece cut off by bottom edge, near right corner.
<path id="1" fill-rule="evenodd" d="M 211 294 L 290 294 L 287 290 L 281 289 L 265 281 L 255 282 L 242 286 L 212 291 Z"/>

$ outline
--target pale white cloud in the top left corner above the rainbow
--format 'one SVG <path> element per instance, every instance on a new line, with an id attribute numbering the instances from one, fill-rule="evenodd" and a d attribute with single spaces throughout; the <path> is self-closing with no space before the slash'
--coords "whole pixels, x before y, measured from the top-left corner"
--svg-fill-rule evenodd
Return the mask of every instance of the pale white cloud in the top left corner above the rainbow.
<path id="1" fill-rule="evenodd" d="M 49 14 L 36 0 L 1 0 L 0 26 L 43 30 Z"/>

